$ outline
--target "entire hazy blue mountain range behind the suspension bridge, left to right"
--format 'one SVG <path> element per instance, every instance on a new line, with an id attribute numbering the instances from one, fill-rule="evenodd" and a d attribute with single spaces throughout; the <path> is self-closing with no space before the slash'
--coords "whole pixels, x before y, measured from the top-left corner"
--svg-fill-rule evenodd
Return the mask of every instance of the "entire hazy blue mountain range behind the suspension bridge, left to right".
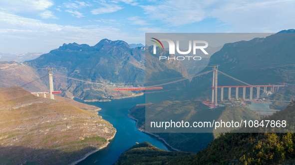
<path id="1" fill-rule="evenodd" d="M 293 56 L 295 33 L 292 33 L 293 31 L 292 29 L 285 30 L 266 38 L 228 43 L 220 51 L 217 51 L 220 48 L 208 48 L 208 51 L 212 53 L 217 51 L 210 57 L 208 65 L 220 65 L 220 71 L 251 84 L 292 83 L 294 81 L 293 73 L 295 72 L 293 65 L 295 62 Z M 203 58 L 198 66 L 196 66 L 196 63 L 184 61 L 163 60 L 163 62 L 159 62 L 150 53 L 150 48 L 131 48 L 130 45 L 124 41 L 108 39 L 103 39 L 94 46 L 77 43 L 63 44 L 58 49 L 24 64 L 28 66 L 27 68 L 31 67 L 30 70 L 39 77 L 47 74 L 47 71 L 36 70 L 37 68 L 57 68 L 58 70 L 55 70 L 53 74 L 54 88 L 55 90 L 62 90 L 64 96 L 78 97 L 84 100 L 108 100 L 109 98 L 122 98 L 139 94 L 131 91 L 115 91 L 114 86 L 144 86 L 145 78 L 147 80 L 150 78 L 159 80 L 187 77 L 200 72 L 209 61 L 208 58 Z M 146 50 L 148 50 L 147 57 L 145 57 Z M 169 55 L 167 51 L 158 50 L 158 52 L 164 56 Z M 146 59 L 148 61 L 145 61 Z M 147 70 L 146 65 L 148 66 Z M 205 68 L 203 71 L 207 70 L 210 70 L 210 68 Z M 8 73 L 8 70 L 5 72 L 6 74 L 15 74 L 15 72 Z M 18 73 L 16 72 L 16 74 Z M 36 78 L 36 76 L 31 77 L 30 80 Z M 97 85 L 66 78 L 110 85 Z M 42 82 L 39 81 L 40 84 L 37 86 L 48 86 L 46 79 L 41 79 Z M 7 82 L 0 84 L 0 86 L 14 85 L 10 82 L 15 81 Z M 27 82 L 29 80 L 15 84 Z M 193 79 L 191 84 L 196 82 L 197 80 Z M 237 84 L 220 76 L 220 85 L 231 83 Z M 29 89 L 30 85 L 28 84 L 26 89 Z M 194 90 L 195 88 L 192 91 L 195 92 Z M 200 90 L 204 91 L 207 88 L 198 89 L 198 91 Z"/>

